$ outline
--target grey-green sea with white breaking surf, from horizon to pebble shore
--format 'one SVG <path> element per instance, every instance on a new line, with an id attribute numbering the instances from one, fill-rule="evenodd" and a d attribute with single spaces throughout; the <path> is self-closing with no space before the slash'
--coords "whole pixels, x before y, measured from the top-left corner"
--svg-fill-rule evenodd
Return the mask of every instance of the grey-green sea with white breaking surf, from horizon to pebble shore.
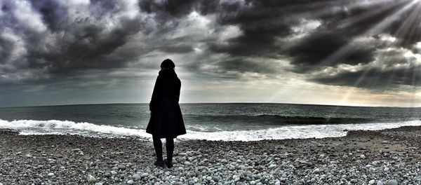
<path id="1" fill-rule="evenodd" d="M 257 141 L 345 136 L 347 130 L 421 125 L 421 108 L 307 104 L 180 104 L 187 134 L 179 139 Z M 151 139 L 148 104 L 83 104 L 0 108 L 0 128 L 22 135 Z"/>

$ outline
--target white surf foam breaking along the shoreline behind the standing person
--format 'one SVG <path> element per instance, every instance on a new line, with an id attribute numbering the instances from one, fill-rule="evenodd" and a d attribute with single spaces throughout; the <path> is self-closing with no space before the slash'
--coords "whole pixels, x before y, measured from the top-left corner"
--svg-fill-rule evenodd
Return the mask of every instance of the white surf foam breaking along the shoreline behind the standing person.
<path id="1" fill-rule="evenodd" d="M 200 132 L 187 130 L 187 135 L 180 139 L 206 139 L 222 141 L 258 141 L 262 139 L 293 139 L 293 138 L 322 138 L 342 137 L 347 134 L 344 130 L 382 130 L 399 128 L 401 126 L 419 126 L 421 121 L 403 121 L 399 123 L 365 123 L 365 124 L 338 124 L 338 125 L 286 125 L 265 130 L 240 130 Z M 95 132 L 98 134 L 111 134 L 122 136 L 138 136 L 150 138 L 142 129 L 121 128 L 109 125 L 95 125 L 93 123 L 75 123 L 73 121 L 33 121 L 18 120 L 4 121 L 0 119 L 0 128 L 20 130 L 24 135 L 36 134 L 85 134 Z"/>

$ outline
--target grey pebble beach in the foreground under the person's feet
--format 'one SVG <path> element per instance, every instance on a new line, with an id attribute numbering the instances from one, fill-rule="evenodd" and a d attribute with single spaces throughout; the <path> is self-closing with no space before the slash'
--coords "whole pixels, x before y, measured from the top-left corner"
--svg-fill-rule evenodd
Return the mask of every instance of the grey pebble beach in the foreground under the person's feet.
<path id="1" fill-rule="evenodd" d="M 0 185 L 421 184 L 420 145 L 421 127 L 322 139 L 183 140 L 168 169 L 153 165 L 152 142 L 138 137 L 0 130 Z"/>

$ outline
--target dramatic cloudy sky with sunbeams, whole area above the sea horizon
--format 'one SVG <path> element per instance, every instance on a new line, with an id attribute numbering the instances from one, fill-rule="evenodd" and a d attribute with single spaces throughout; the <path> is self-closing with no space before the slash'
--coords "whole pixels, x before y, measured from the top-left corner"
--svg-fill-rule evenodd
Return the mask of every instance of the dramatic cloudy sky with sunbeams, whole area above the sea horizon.
<path id="1" fill-rule="evenodd" d="M 0 0 L 0 107 L 149 102 L 421 106 L 419 0 Z"/>

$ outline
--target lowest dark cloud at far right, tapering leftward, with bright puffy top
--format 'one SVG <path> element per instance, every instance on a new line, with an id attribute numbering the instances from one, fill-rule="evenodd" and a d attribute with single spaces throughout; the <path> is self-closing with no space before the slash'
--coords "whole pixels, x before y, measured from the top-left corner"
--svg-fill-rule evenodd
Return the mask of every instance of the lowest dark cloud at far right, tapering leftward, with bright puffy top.
<path id="1" fill-rule="evenodd" d="M 421 85 L 421 69 L 415 57 L 405 56 L 405 50 L 377 52 L 377 62 L 354 71 L 321 74 L 311 81 L 328 85 L 352 86 L 371 90 L 387 90 L 399 85 Z"/>

